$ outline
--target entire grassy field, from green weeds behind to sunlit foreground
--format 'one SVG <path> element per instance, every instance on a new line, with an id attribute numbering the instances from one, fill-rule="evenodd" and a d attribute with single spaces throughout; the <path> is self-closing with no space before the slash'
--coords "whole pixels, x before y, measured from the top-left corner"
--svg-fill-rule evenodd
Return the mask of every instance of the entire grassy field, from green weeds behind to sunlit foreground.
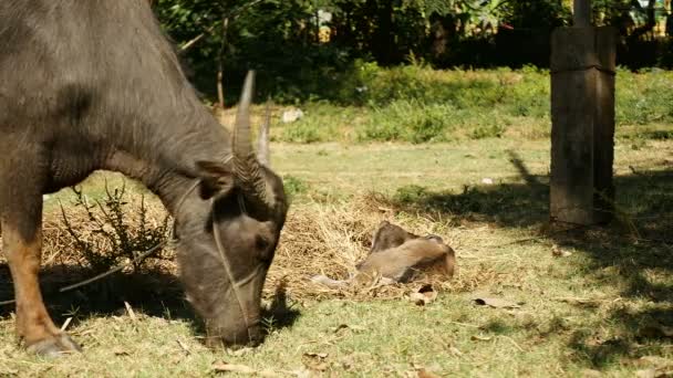
<path id="1" fill-rule="evenodd" d="M 200 377 L 216 375 L 220 363 L 281 376 L 391 377 L 424 367 L 441 376 L 591 369 L 632 377 L 673 369 L 665 335 L 673 328 L 672 73 L 619 71 L 618 220 L 566 232 L 548 224 L 548 72 L 359 62 L 335 81 L 332 92 L 300 106 L 303 118 L 272 126 L 272 165 L 292 207 L 266 300 L 290 275 L 290 308 L 268 313 L 262 346 L 204 348 L 172 263 L 56 294 L 93 274 L 73 263 L 72 241 L 54 238 L 45 241 L 45 260 L 56 256 L 42 276 L 46 303 L 59 323 L 73 317 L 69 330 L 85 353 L 27 355 L 14 343 L 12 308 L 0 307 L 0 376 Z M 97 172 L 84 183 L 86 195 L 104 198 L 105 181 L 115 188 L 123 179 Z M 126 183 L 130 195 L 147 195 Z M 73 210 L 73 198 L 63 190 L 46 200 L 50 227 L 59 224 L 60 203 Z M 309 295 L 308 279 L 366 253 L 383 219 L 441 234 L 457 251 L 458 274 L 438 300 L 413 305 L 404 298 L 413 284 L 376 297 Z M 555 249 L 570 254 L 553 256 Z M 11 292 L 1 259 L 3 301 Z M 486 295 L 521 307 L 475 305 Z"/>

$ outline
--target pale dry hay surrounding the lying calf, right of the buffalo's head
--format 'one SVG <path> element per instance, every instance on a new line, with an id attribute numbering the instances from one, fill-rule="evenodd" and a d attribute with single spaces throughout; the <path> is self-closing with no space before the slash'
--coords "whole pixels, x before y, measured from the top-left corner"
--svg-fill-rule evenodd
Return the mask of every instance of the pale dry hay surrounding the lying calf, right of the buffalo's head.
<path id="1" fill-rule="evenodd" d="M 356 263 L 369 252 L 374 230 L 383 220 L 392 220 L 418 234 L 442 234 L 437 224 L 429 220 L 404 222 L 393 220 L 394 213 L 395 209 L 376 196 L 340 204 L 311 203 L 292 209 L 269 271 L 268 287 L 284 283 L 293 297 L 313 300 L 400 298 L 428 283 L 435 290 L 458 290 L 462 286 L 459 274 L 452 281 L 426 277 L 406 285 L 381 285 L 374 280 L 364 285 L 331 288 L 311 282 L 310 277 L 315 274 L 345 279 L 354 273 Z"/>

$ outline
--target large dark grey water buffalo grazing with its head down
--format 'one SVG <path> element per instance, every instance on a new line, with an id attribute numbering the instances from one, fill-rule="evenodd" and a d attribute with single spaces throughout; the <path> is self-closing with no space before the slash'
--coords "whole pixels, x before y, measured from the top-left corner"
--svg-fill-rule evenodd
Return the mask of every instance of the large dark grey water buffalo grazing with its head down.
<path id="1" fill-rule="evenodd" d="M 267 141 L 257 155 L 251 147 L 252 74 L 229 134 L 147 1 L 4 0 L 0 19 L 0 224 L 23 345 L 46 356 L 80 350 L 38 283 L 42 193 L 97 169 L 138 179 L 173 214 L 180 276 L 208 344 L 258 344 L 288 202 Z"/>

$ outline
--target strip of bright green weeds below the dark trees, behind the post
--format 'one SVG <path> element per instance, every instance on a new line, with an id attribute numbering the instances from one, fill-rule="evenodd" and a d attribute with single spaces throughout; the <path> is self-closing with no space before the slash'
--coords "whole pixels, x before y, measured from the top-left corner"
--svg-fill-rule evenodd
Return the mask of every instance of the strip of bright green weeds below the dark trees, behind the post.
<path id="1" fill-rule="evenodd" d="M 421 64 L 382 69 L 355 63 L 325 84 L 306 117 L 279 125 L 278 140 L 452 141 L 490 137 L 547 138 L 550 76 L 545 70 L 436 71 Z M 617 135 L 670 138 L 673 73 L 619 70 Z M 320 99 L 322 98 L 322 99 Z"/>

